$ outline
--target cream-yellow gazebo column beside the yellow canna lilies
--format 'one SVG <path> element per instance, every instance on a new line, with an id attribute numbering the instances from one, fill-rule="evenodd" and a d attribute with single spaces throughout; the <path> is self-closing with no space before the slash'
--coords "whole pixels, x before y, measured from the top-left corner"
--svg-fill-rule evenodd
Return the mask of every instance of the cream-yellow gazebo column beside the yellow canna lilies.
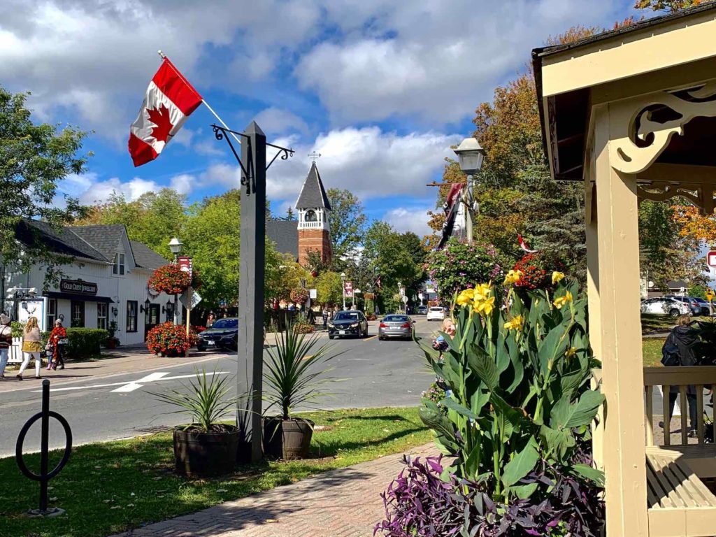
<path id="1" fill-rule="evenodd" d="M 644 450 L 642 327 L 639 314 L 639 222 L 637 183 L 611 167 L 609 140 L 628 121 L 594 107 L 599 335 L 594 339 L 602 362 L 606 396 L 604 472 L 606 534 L 649 535 L 647 470 Z M 591 258 L 594 264 L 594 258 Z M 592 284 L 594 286 L 594 282 Z"/>

